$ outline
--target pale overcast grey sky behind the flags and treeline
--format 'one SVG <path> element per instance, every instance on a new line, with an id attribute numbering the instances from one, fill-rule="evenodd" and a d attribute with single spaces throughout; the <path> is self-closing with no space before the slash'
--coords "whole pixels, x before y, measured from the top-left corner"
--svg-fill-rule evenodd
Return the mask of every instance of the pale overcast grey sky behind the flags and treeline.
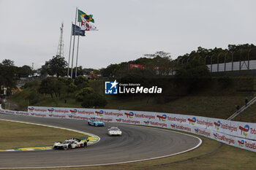
<path id="1" fill-rule="evenodd" d="M 41 68 L 57 53 L 61 22 L 68 61 L 76 7 L 94 15 L 99 29 L 80 36 L 83 68 L 101 69 L 161 50 L 175 59 L 199 46 L 256 45 L 254 0 L 0 0 L 0 62 Z"/>

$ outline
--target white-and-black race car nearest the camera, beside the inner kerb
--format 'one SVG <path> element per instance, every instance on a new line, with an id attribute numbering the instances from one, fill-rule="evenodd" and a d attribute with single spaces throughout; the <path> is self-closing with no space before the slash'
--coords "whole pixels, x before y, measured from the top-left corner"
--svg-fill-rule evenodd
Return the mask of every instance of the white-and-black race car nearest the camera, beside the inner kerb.
<path id="1" fill-rule="evenodd" d="M 77 138 L 70 138 L 65 140 L 63 143 L 55 142 L 53 144 L 53 150 L 71 150 L 77 147 L 87 147 L 87 142 L 89 142 L 89 139 L 80 140 Z"/>

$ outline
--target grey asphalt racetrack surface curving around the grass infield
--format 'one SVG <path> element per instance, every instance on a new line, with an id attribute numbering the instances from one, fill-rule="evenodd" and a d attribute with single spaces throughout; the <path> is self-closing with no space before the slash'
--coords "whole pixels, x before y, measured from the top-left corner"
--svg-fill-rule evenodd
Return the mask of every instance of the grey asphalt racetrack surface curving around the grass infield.
<path id="1" fill-rule="evenodd" d="M 183 152 L 200 143 L 200 139 L 193 136 L 139 125 L 105 123 L 105 127 L 93 127 L 84 120 L 3 114 L 0 114 L 0 118 L 72 128 L 100 137 L 100 141 L 96 144 L 73 150 L 0 152 L 0 169 L 93 166 L 104 163 L 136 161 Z M 123 132 L 122 136 L 108 136 L 107 128 L 111 125 L 118 125 L 118 128 Z"/>

